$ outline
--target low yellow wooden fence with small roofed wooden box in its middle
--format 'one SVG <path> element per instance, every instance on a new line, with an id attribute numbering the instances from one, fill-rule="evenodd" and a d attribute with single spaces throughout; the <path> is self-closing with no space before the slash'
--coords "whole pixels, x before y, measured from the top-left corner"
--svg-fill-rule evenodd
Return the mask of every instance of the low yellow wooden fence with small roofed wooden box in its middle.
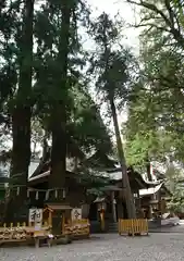
<path id="1" fill-rule="evenodd" d="M 40 240 L 48 246 L 53 239 L 79 238 L 89 236 L 89 222 L 85 219 L 72 220 L 72 207 L 68 204 L 48 203 L 42 211 L 40 223 L 3 224 L 0 227 L 0 245 L 4 243 L 34 243 L 39 247 Z M 70 241 L 70 240 L 69 240 Z M 65 243 L 64 243 L 65 244 Z"/>

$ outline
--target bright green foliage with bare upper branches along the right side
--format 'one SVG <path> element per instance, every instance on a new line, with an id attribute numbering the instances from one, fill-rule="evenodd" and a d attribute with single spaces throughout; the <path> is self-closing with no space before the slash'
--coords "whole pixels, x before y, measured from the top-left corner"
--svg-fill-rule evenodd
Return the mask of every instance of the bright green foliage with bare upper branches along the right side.
<path id="1" fill-rule="evenodd" d="M 131 163 L 148 158 L 183 161 L 184 66 L 180 1 L 132 1 L 140 8 L 143 70 L 128 101 L 123 130 Z"/>

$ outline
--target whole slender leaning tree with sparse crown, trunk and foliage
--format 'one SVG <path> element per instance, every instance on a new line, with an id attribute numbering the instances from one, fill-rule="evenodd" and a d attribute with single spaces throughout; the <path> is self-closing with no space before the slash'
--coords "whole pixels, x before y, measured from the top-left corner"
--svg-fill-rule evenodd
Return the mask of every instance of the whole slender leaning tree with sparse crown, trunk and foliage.
<path id="1" fill-rule="evenodd" d="M 123 196 L 126 203 L 128 219 L 134 219 L 136 214 L 135 206 L 126 172 L 126 161 L 115 108 L 115 100 L 121 99 L 121 101 L 124 102 L 127 96 L 127 85 L 130 80 L 127 63 L 131 55 L 127 50 L 121 49 L 113 51 L 112 46 L 115 46 L 119 30 L 118 26 L 106 13 L 101 14 L 97 23 L 94 24 L 93 32 L 95 32 L 94 38 L 97 48 L 99 48 L 97 52 L 98 55 L 95 55 L 93 59 L 93 69 L 95 69 L 96 73 L 99 75 L 96 86 L 106 97 L 108 104 L 110 104 L 115 130 L 119 161 L 122 169 Z"/>

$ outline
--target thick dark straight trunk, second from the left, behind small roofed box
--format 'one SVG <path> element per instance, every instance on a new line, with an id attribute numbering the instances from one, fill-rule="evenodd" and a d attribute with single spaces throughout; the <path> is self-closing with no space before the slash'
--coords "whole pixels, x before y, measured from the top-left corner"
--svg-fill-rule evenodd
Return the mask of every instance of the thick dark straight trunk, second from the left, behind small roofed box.
<path id="1" fill-rule="evenodd" d="M 49 187 L 58 188 L 56 194 L 50 192 L 49 200 L 61 200 L 62 188 L 65 186 L 65 160 L 66 160 L 66 99 L 68 99 L 68 55 L 70 40 L 71 1 L 61 2 L 62 24 L 58 54 L 58 79 L 56 79 L 54 100 L 51 108 L 51 174 Z"/>

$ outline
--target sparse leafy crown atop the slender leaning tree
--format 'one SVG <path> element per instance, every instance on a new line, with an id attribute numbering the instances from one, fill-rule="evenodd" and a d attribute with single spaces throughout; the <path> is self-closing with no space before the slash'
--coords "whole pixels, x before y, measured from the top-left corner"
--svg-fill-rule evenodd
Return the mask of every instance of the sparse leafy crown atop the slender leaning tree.
<path id="1" fill-rule="evenodd" d="M 128 49 L 119 44 L 121 28 L 121 23 L 113 22 L 106 13 L 93 24 L 97 51 L 89 72 L 96 75 L 97 91 L 102 92 L 105 100 L 108 102 L 111 97 L 121 100 L 123 105 L 127 99 L 134 58 Z"/>

